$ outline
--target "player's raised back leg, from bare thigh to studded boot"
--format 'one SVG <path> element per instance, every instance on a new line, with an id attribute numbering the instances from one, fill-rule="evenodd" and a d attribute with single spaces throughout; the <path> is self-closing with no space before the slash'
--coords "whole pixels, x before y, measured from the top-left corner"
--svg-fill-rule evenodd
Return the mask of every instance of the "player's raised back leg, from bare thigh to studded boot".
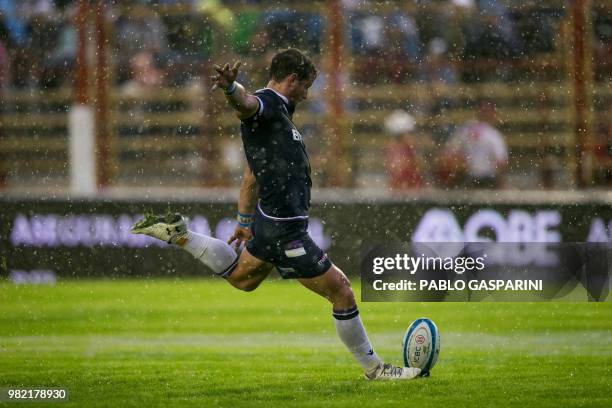
<path id="1" fill-rule="evenodd" d="M 188 231 L 185 219 L 180 214 L 147 214 L 144 220 L 134 224 L 131 232 L 148 235 L 185 249 L 216 275 L 247 292 L 255 290 L 272 268 L 271 264 L 254 257 L 246 249 L 238 256 L 231 245 Z"/>

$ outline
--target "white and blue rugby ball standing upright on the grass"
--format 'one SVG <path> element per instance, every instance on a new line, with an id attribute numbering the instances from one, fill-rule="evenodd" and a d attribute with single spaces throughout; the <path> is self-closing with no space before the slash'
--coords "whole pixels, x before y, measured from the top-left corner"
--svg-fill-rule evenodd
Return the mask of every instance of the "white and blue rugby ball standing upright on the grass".
<path id="1" fill-rule="evenodd" d="M 440 354 L 440 332 L 435 323 L 422 317 L 412 322 L 404 336 L 404 366 L 418 367 L 421 377 L 429 372 Z"/>

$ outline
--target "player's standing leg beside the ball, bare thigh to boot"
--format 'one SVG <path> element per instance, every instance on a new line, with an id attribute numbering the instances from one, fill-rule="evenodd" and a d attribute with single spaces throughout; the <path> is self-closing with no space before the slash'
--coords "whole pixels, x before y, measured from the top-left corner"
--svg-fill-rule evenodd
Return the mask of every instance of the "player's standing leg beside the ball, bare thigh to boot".
<path id="1" fill-rule="evenodd" d="M 332 265 L 321 276 L 300 279 L 300 283 L 332 303 L 332 314 L 338 336 L 359 362 L 366 378 L 370 380 L 410 380 L 419 375 L 421 372 L 419 368 L 386 364 L 376 355 L 359 317 L 359 310 L 349 280 L 335 265 Z"/>

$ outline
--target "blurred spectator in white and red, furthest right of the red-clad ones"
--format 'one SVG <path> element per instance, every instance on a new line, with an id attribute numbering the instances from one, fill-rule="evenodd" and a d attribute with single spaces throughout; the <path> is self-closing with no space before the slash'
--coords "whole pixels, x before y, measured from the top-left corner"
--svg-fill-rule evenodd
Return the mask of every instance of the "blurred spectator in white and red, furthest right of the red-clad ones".
<path id="1" fill-rule="evenodd" d="M 493 126 L 496 117 L 495 104 L 482 102 L 477 119 L 465 123 L 447 142 L 438 168 L 444 184 L 472 188 L 502 186 L 508 149 L 503 135 Z"/>

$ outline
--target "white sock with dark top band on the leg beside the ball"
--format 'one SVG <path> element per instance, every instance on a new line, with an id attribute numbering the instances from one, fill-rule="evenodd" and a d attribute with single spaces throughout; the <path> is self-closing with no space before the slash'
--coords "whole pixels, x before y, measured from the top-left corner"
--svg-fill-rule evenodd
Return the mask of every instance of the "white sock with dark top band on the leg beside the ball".
<path id="1" fill-rule="evenodd" d="M 336 323 L 336 332 L 340 340 L 342 340 L 366 373 L 382 364 L 382 360 L 376 355 L 370 344 L 368 335 L 359 317 L 357 306 L 349 310 L 334 311 L 333 316 Z"/>

